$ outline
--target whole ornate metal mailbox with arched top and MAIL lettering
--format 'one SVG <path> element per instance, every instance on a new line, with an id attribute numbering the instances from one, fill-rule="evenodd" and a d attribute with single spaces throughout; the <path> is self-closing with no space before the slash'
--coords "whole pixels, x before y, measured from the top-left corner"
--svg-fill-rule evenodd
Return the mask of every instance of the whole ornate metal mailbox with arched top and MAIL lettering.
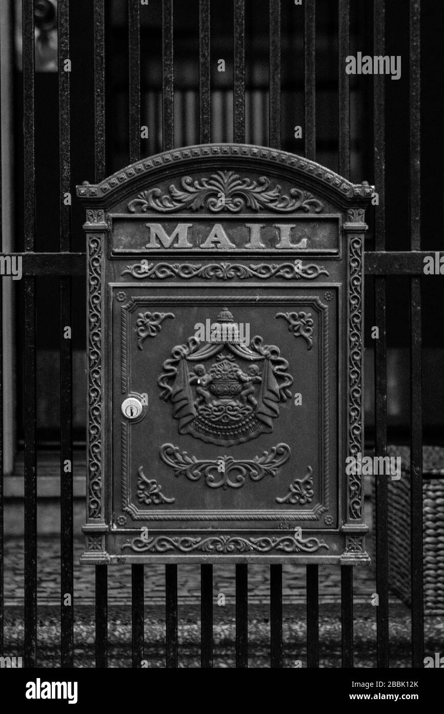
<path id="1" fill-rule="evenodd" d="M 85 563 L 368 561 L 367 183 L 192 146 L 78 186 L 88 241 Z"/>

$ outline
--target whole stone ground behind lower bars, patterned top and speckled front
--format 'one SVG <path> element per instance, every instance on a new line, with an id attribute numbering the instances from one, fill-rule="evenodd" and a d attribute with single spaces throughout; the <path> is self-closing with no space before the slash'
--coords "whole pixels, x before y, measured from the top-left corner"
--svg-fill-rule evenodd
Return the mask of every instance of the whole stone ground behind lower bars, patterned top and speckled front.
<path id="1" fill-rule="evenodd" d="M 373 554 L 372 539 L 367 549 Z M 83 541 L 74 547 L 75 666 L 94 667 L 94 568 L 79 565 Z M 214 647 L 217 668 L 233 668 L 235 641 L 234 565 L 215 565 Z M 355 666 L 376 667 L 376 608 L 373 565 L 354 569 Z M 108 568 L 109 666 L 131 667 L 130 566 Z M 24 644 L 24 548 L 7 538 L 5 548 L 5 651 L 20 654 Z M 60 664 L 60 545 L 58 537 L 38 539 L 38 665 Z M 224 607 L 217 595 L 224 593 Z M 321 667 L 341 663 L 340 568 L 319 566 L 319 640 Z M 305 567 L 283 568 L 284 667 L 306 666 Z M 178 568 L 180 667 L 200 667 L 200 568 Z M 249 666 L 269 667 L 269 568 L 249 566 Z M 391 598 L 391 667 L 410 666 L 411 620 L 408 609 Z M 444 618 L 425 618 L 425 653 L 444 651 Z M 150 668 L 165 667 L 165 567 L 145 566 L 145 652 Z"/>

